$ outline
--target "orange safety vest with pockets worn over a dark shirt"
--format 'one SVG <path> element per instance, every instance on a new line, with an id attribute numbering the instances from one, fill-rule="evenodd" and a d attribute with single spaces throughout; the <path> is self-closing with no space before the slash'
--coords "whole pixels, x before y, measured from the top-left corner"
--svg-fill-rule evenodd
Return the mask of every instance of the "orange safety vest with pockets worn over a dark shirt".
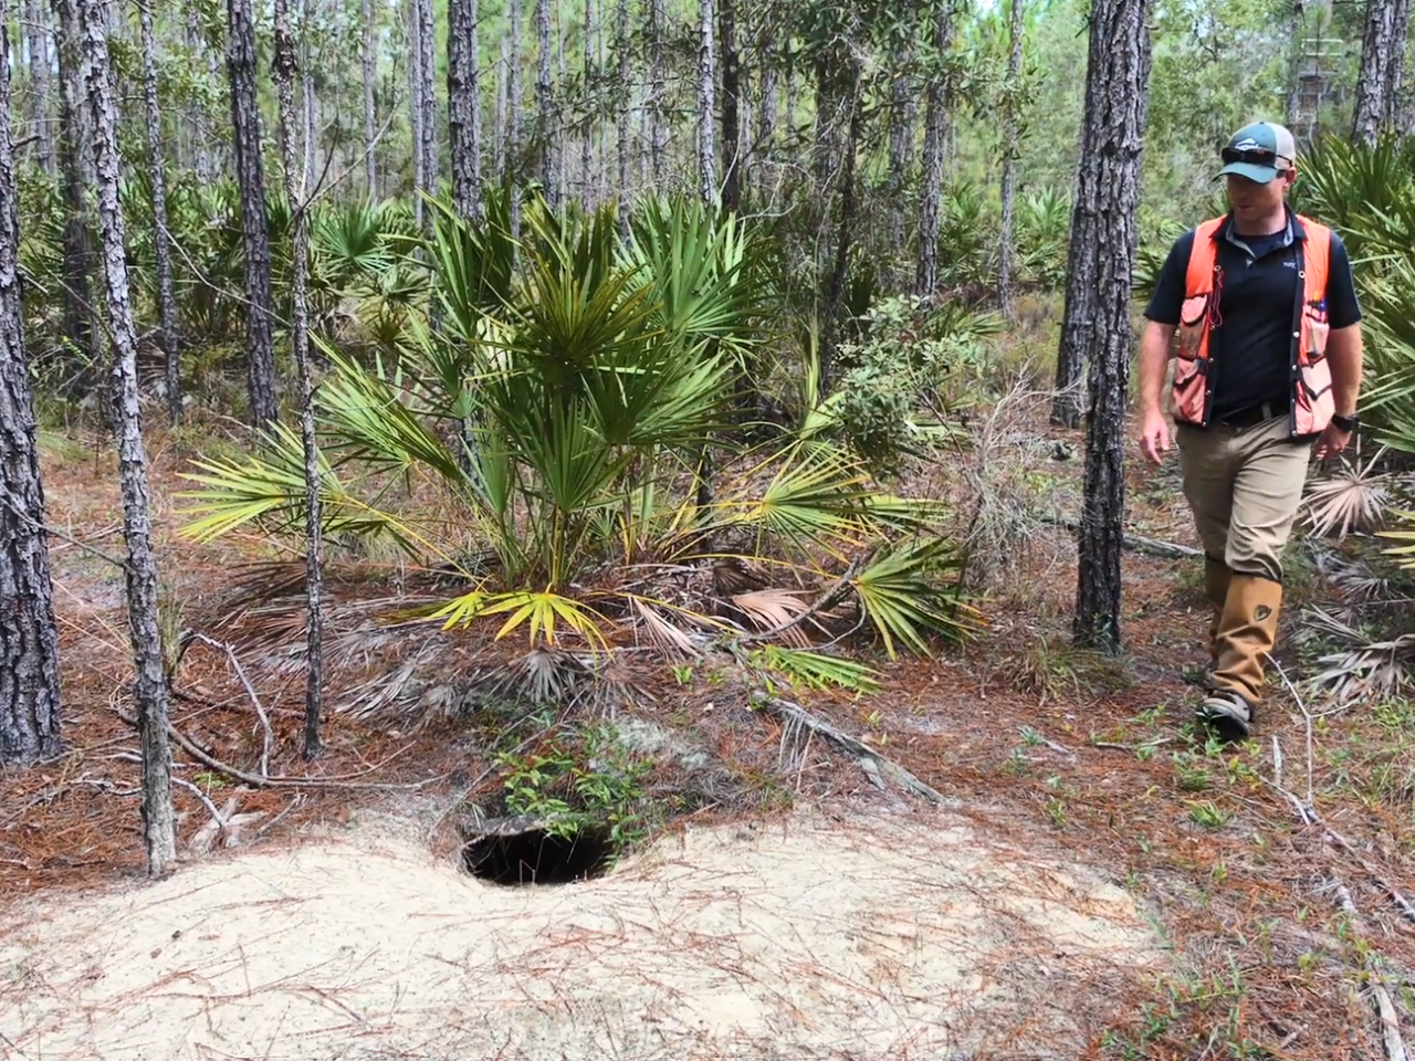
<path id="1" fill-rule="evenodd" d="M 1327 332 L 1326 282 L 1332 262 L 1332 229 L 1298 216 L 1306 239 L 1298 239 L 1298 279 L 1302 287 L 1292 310 L 1292 396 L 1289 424 L 1293 437 L 1320 434 L 1336 412 L 1332 393 L 1332 366 L 1326 359 Z M 1218 266 L 1218 229 L 1224 218 L 1206 221 L 1194 229 L 1184 280 L 1184 303 L 1179 320 L 1172 412 L 1182 423 L 1208 426 L 1213 409 L 1213 361 L 1208 356 L 1210 331 L 1223 321 L 1218 303 L 1223 297 L 1224 272 Z M 1232 356 L 1235 351 L 1230 352 Z"/>

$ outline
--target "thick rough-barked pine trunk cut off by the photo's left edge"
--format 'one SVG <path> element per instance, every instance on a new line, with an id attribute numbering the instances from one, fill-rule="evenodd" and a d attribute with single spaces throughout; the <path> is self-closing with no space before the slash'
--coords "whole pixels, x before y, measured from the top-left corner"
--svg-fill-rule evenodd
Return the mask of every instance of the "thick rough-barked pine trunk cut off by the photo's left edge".
<path id="1" fill-rule="evenodd" d="M 62 750 L 59 639 L 20 293 L 8 27 L 10 4 L 0 0 L 0 767 Z"/>

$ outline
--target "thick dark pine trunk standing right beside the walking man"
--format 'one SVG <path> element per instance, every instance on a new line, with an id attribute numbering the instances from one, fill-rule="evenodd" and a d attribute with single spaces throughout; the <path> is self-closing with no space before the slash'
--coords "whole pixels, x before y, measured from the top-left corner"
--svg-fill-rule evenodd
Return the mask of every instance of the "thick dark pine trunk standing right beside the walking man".
<path id="1" fill-rule="evenodd" d="M 1148 8 L 1148 0 L 1097 0 L 1091 8 L 1064 318 L 1077 356 L 1084 352 L 1090 359 L 1075 639 L 1112 651 L 1121 645 L 1125 416 L 1135 338 L 1129 311 L 1150 74 Z M 1082 286 L 1085 296 L 1077 297 Z"/>

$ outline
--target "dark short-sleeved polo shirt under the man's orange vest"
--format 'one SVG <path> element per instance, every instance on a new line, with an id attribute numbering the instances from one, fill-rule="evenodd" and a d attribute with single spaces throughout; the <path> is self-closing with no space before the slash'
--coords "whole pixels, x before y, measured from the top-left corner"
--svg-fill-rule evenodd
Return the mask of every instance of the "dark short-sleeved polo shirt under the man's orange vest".
<path id="1" fill-rule="evenodd" d="M 1286 409 L 1292 399 L 1292 308 L 1298 297 L 1298 242 L 1306 239 L 1302 221 L 1288 211 L 1288 225 L 1269 236 L 1240 236 L 1230 214 L 1218 229 L 1218 265 L 1224 290 L 1220 323 L 1210 331 L 1213 358 L 1211 423 L 1244 413 L 1264 402 Z M 1190 229 L 1169 252 L 1145 315 L 1179 325 L 1184 274 L 1194 246 Z M 1341 238 L 1332 233 L 1327 270 L 1327 321 L 1348 328 L 1361 320 L 1351 263 Z"/>

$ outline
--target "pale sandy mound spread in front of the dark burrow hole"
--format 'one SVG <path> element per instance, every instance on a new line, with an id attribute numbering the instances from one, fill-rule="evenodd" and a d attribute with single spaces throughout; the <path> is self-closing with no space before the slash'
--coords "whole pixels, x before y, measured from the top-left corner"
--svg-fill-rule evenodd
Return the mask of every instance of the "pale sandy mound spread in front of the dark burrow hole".
<path id="1" fill-rule="evenodd" d="M 1068 1058 L 1157 958 L 1119 888 L 937 813 L 512 888 L 364 830 L 11 912 L 0 1055 L 47 1061 Z"/>

